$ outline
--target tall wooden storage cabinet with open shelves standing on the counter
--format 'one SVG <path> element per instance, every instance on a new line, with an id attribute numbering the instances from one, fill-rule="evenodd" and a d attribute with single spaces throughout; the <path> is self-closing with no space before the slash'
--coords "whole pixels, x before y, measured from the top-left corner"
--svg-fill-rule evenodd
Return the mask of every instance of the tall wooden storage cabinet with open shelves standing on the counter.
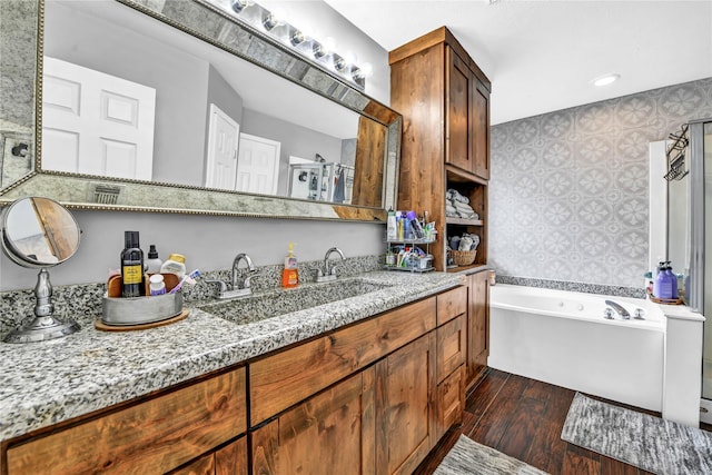
<path id="1" fill-rule="evenodd" d="M 436 221 L 437 270 L 446 269 L 447 237 L 464 231 L 479 236 L 474 264 L 486 264 L 491 82 L 445 27 L 390 51 L 389 63 L 390 105 L 404 117 L 398 207 Z M 479 219 L 446 217 L 449 188 Z"/>

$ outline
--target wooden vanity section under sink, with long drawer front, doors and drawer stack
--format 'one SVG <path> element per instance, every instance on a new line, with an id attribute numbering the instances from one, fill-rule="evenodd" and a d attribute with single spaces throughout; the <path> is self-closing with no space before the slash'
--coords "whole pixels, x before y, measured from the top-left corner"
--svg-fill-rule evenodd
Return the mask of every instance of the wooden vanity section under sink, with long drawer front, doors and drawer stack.
<path id="1" fill-rule="evenodd" d="M 249 364 L 253 473 L 412 473 L 462 419 L 467 295 L 456 287 Z"/>

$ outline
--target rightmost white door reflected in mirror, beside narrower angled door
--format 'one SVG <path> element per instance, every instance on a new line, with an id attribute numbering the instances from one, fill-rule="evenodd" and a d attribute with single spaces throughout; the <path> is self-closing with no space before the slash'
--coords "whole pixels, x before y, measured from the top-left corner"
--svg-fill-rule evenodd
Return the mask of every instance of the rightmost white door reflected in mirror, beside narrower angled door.
<path id="1" fill-rule="evenodd" d="M 248 133 L 240 133 L 237 156 L 238 191 L 276 195 L 279 179 L 281 144 Z"/>

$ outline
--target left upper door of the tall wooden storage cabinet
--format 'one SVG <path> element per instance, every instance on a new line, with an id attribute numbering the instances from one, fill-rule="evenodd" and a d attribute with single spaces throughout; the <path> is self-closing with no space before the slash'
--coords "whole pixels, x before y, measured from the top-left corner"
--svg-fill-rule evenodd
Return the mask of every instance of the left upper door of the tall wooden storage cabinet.
<path id="1" fill-rule="evenodd" d="M 473 171 L 472 164 L 472 72 L 449 48 L 445 48 L 447 115 L 445 118 L 445 162 Z"/>

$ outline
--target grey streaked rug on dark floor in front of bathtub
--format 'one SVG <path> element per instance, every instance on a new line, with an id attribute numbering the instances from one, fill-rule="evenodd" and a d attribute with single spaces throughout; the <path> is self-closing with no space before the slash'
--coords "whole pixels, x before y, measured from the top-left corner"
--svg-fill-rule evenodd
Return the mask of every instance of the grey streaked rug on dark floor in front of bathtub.
<path id="1" fill-rule="evenodd" d="M 561 438 L 655 474 L 712 474 L 712 433 L 580 393 Z"/>

